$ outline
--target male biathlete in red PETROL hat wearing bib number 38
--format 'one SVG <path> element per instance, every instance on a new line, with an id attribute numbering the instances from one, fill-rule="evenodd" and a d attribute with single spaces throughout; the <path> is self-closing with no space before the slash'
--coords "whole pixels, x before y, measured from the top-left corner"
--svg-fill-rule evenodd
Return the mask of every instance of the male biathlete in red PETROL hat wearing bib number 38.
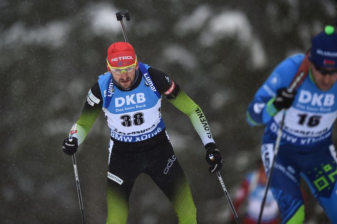
<path id="1" fill-rule="evenodd" d="M 63 152 L 73 155 L 77 151 L 103 109 L 111 138 L 106 223 L 126 223 L 129 196 L 140 173 L 149 175 L 165 193 L 179 223 L 197 223 L 189 185 L 165 131 L 161 97 L 190 118 L 205 145 L 209 171 L 214 173 L 222 168 L 222 157 L 202 110 L 165 73 L 138 62 L 129 43 L 111 44 L 106 62 L 108 72 L 89 90 L 79 120 L 63 141 Z"/>

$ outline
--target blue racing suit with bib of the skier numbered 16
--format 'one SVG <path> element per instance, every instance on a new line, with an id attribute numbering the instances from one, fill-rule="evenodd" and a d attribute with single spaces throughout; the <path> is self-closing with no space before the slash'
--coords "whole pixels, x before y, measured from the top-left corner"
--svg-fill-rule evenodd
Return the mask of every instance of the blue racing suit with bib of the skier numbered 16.
<path id="1" fill-rule="evenodd" d="M 268 173 L 274 158 L 274 143 L 283 110 L 273 102 L 277 89 L 288 87 L 297 73 L 303 54 L 283 60 L 256 92 L 247 110 L 251 126 L 266 126 L 261 157 Z M 274 164 L 271 190 L 280 209 L 282 223 L 301 223 L 304 203 L 300 191 L 302 177 L 332 223 L 337 223 L 337 156 L 332 143 L 332 127 L 337 117 L 335 83 L 320 90 L 311 68 L 298 87 L 292 106 L 286 110 L 279 151 Z"/>

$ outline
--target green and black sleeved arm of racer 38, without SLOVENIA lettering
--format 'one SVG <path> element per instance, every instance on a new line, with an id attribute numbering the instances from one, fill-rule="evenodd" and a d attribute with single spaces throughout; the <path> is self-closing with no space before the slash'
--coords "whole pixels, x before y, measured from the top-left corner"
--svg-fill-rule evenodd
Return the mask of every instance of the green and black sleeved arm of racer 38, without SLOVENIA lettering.
<path id="1" fill-rule="evenodd" d="M 80 118 L 76 121 L 73 128 L 71 128 L 69 137 L 76 137 L 78 144 L 81 144 L 100 114 L 102 105 L 102 94 L 97 82 L 89 90 Z"/>

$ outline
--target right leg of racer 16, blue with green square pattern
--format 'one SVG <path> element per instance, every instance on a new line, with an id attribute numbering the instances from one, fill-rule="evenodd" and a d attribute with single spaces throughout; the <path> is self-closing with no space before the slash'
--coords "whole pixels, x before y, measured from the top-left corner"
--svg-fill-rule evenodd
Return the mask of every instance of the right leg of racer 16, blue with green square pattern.
<path id="1" fill-rule="evenodd" d="M 332 223 L 337 223 L 337 156 L 334 145 L 321 146 L 306 158 L 302 176 Z"/>

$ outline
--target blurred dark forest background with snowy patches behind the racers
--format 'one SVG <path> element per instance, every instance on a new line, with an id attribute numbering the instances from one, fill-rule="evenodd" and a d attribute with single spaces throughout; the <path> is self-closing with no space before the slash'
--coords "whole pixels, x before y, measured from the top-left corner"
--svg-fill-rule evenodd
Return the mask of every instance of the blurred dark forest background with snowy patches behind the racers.
<path id="1" fill-rule="evenodd" d="M 108 46 L 124 41 L 115 13 L 126 9 L 131 20 L 124 24 L 138 60 L 169 74 L 203 109 L 232 200 L 260 159 L 263 128 L 247 125 L 248 103 L 272 69 L 306 52 L 311 37 L 336 15 L 332 0 L 2 0 L 1 223 L 81 223 L 73 164 L 61 145 L 88 90 L 106 71 Z M 107 214 L 109 130 L 103 114 L 76 153 L 87 223 L 105 223 Z M 207 171 L 190 120 L 165 99 L 162 115 L 198 223 L 228 223 L 229 205 L 218 178 Z M 310 196 L 306 223 L 327 222 Z M 148 176 L 135 183 L 128 223 L 177 223 Z"/>

